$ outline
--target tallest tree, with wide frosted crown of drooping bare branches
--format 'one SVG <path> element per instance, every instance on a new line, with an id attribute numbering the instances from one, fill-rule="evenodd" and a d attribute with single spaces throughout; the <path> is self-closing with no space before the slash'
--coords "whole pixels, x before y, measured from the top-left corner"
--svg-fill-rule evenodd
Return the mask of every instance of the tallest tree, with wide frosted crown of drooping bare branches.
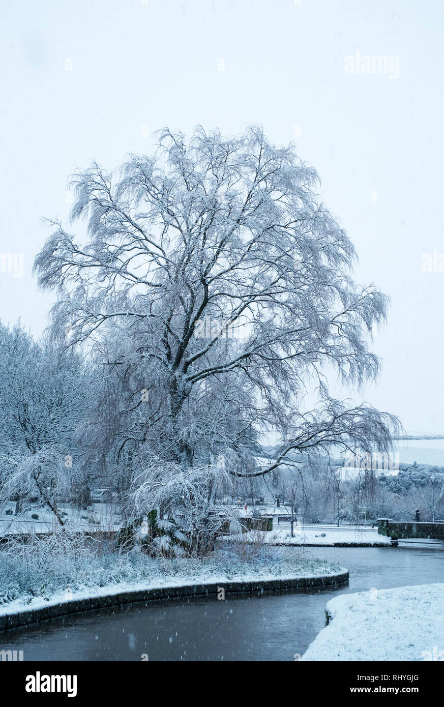
<path id="1" fill-rule="evenodd" d="M 199 127 L 188 142 L 164 129 L 153 156 L 74 176 L 86 236 L 51 221 L 35 270 L 58 293 L 54 339 L 69 327 L 103 371 L 110 414 L 91 430 L 138 477 L 136 496 L 143 472 L 189 488 L 194 469 L 202 488 L 209 469 L 211 501 L 214 469 L 255 477 L 294 452 L 389 448 L 392 416 L 329 395 L 332 370 L 355 387 L 378 375 L 367 340 L 387 298 L 354 283 L 354 247 L 318 183 L 254 127 L 233 139 Z M 279 455 L 258 469 L 264 431 Z"/>

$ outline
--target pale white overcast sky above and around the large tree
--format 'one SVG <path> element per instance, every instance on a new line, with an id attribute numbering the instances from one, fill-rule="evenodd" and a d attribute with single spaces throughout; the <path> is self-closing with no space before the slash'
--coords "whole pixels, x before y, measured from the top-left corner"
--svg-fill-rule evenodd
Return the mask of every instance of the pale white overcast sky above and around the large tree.
<path id="1" fill-rule="evenodd" d="M 164 126 L 262 124 L 317 169 L 358 281 L 392 298 L 365 399 L 444 433 L 443 15 L 440 0 L 2 0 L 0 253 L 17 271 L 0 271 L 1 320 L 47 323 L 40 218 L 66 219 L 76 167 L 150 153 Z"/>

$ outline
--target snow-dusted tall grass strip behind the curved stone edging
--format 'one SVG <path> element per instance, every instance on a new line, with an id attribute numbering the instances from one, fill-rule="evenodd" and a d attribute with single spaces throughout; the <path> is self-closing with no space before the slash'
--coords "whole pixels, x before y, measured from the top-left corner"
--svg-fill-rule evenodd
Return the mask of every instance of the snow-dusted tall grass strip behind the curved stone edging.
<path id="1" fill-rule="evenodd" d="M 62 536 L 62 537 L 61 537 Z M 0 546 L 0 612 L 54 597 L 94 595 L 216 580 L 313 577 L 339 571 L 337 565 L 300 555 L 283 557 L 264 544 L 229 543 L 201 559 L 153 558 L 138 549 L 119 553 L 109 544 L 56 534 Z"/>

